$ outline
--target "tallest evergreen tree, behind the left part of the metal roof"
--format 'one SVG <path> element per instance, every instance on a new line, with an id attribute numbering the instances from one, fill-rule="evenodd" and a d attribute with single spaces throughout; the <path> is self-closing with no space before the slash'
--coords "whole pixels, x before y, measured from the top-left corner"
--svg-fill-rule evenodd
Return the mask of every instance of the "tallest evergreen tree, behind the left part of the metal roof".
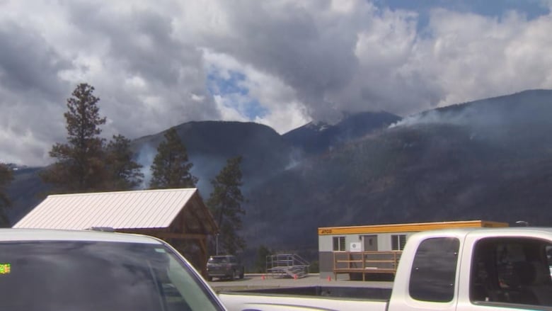
<path id="1" fill-rule="evenodd" d="M 50 157 L 57 161 L 41 174 L 59 192 L 98 190 L 105 180 L 104 140 L 99 137 L 105 118 L 98 113 L 100 98 L 93 91 L 93 86 L 79 84 L 67 99 L 67 143 L 52 147 Z"/>

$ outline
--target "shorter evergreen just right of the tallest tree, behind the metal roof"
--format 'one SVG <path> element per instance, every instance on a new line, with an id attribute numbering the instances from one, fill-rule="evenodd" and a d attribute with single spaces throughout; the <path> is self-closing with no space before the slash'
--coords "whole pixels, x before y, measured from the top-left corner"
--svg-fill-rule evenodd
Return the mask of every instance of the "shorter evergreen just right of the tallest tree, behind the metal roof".
<path id="1" fill-rule="evenodd" d="M 106 188 L 115 191 L 131 190 L 142 183 L 142 165 L 132 160 L 130 140 L 122 135 L 113 135 L 106 151 L 105 162 L 109 175 Z"/>

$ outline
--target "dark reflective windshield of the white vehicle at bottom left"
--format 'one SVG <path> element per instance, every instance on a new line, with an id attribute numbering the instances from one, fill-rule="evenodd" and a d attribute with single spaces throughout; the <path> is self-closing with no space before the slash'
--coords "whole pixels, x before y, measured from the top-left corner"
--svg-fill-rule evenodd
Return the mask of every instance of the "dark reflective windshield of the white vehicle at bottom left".
<path id="1" fill-rule="evenodd" d="M 161 244 L 0 243 L 0 310 L 223 310 Z"/>

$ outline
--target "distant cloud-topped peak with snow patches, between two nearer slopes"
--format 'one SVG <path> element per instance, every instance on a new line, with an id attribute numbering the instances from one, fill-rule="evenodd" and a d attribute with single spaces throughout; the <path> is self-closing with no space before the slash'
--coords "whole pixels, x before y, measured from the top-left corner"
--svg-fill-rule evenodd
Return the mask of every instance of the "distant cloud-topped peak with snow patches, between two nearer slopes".
<path id="1" fill-rule="evenodd" d="M 401 117 L 386 112 L 347 113 L 335 125 L 311 122 L 285 133 L 282 137 L 302 154 L 316 154 L 387 128 L 398 120 Z"/>

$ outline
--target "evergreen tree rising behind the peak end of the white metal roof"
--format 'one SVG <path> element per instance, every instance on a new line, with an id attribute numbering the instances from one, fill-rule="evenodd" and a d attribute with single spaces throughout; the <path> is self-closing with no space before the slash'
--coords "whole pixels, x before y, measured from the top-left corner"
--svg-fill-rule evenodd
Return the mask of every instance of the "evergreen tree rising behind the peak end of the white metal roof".
<path id="1" fill-rule="evenodd" d="M 165 132 L 165 140 L 157 147 L 154 163 L 151 165 L 152 189 L 194 188 L 197 177 L 190 173 L 193 164 L 188 162 L 188 152 L 178 137 L 176 128 Z"/>

